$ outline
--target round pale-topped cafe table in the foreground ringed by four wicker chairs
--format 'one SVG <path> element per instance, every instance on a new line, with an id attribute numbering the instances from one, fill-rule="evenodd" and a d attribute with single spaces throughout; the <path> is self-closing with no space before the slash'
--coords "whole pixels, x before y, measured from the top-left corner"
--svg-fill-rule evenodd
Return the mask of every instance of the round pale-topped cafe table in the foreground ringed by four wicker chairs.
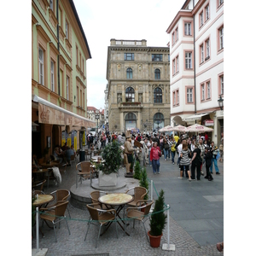
<path id="1" fill-rule="evenodd" d="M 123 224 L 125 224 L 125 222 L 119 216 L 119 212 L 125 207 L 125 204 L 128 204 L 133 200 L 134 200 L 134 198 L 133 198 L 132 195 L 128 195 L 128 194 L 125 194 L 125 193 L 114 193 L 114 194 L 102 195 L 98 199 L 99 202 L 101 202 L 102 204 L 104 204 L 108 208 L 118 207 L 117 210 L 116 210 L 116 215 L 117 215 L 117 218 L 119 218 L 119 220 L 117 220 L 117 221 L 118 221 L 118 224 L 121 227 L 121 229 L 124 230 L 124 231 L 125 231 L 125 228 L 119 222 L 122 221 Z M 125 209 L 124 209 L 124 218 L 125 218 Z M 111 224 L 112 224 L 112 222 L 110 222 L 108 224 L 108 227 Z M 105 231 L 108 230 L 108 227 Z M 128 236 L 130 236 L 127 232 L 126 232 L 126 234 Z"/>

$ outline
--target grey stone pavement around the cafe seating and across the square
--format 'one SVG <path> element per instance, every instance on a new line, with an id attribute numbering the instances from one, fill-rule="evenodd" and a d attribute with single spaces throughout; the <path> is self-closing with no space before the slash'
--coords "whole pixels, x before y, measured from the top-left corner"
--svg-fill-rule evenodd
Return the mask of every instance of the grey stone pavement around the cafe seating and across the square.
<path id="1" fill-rule="evenodd" d="M 177 156 L 176 156 L 177 160 Z M 165 161 L 162 157 L 160 159 L 160 175 L 153 175 L 152 167 L 147 166 L 148 179 L 152 179 L 154 181 L 154 187 L 157 193 L 160 192 L 160 189 L 164 189 L 166 204 L 170 205 L 170 244 L 175 245 L 175 251 L 165 251 L 162 250 L 162 244 L 167 243 L 167 227 L 163 232 L 163 236 L 161 238 L 161 244 L 158 248 L 150 247 L 147 237 L 145 236 L 143 230 L 143 224 L 139 224 L 136 222 L 135 229 L 132 228 L 132 224 L 128 226 L 127 231 L 131 234 L 131 236 L 125 235 L 125 232 L 121 230 L 118 225 L 119 237 L 116 238 L 115 235 L 115 225 L 111 225 L 108 232 L 106 232 L 103 236 L 100 236 L 98 247 L 96 248 L 96 237 L 98 232 L 98 227 L 95 225 L 90 225 L 90 230 L 86 241 L 84 241 L 85 232 L 87 230 L 87 221 L 89 219 L 89 212 L 86 210 L 81 210 L 79 208 L 73 207 L 69 205 L 69 211 L 71 213 L 71 218 L 68 218 L 67 213 L 67 221 L 69 225 L 69 229 L 71 231 L 71 235 L 68 235 L 68 230 L 65 222 L 61 222 L 61 229 L 56 229 L 57 239 L 55 242 L 55 234 L 54 230 L 50 230 L 45 224 L 43 227 L 44 237 L 40 235 L 39 247 L 40 248 L 48 248 L 47 255 L 55 255 L 55 256 L 64 256 L 64 255 L 81 255 L 81 254 L 90 254 L 90 253 L 109 253 L 110 256 L 115 255 L 222 255 L 223 253 L 219 253 L 216 249 L 216 241 L 223 241 L 223 201 L 218 205 L 217 203 L 208 204 L 210 207 L 217 207 L 218 211 L 222 211 L 222 215 L 219 216 L 218 221 L 212 221 L 212 217 L 207 219 L 207 217 L 203 217 L 204 219 L 200 219 L 200 223 L 206 221 L 207 223 L 212 224 L 212 227 L 218 224 L 218 228 L 210 228 L 211 232 L 207 232 L 203 228 L 201 229 L 201 224 L 197 224 L 198 229 L 201 233 L 201 236 L 209 236 L 208 243 L 205 245 L 201 245 L 200 242 L 196 241 L 196 236 L 199 236 L 197 233 L 195 234 L 195 230 L 190 232 L 191 230 L 187 229 L 184 225 L 185 220 L 183 218 L 178 218 L 177 215 L 182 216 L 183 214 L 189 214 L 190 219 L 188 218 L 188 223 L 192 223 L 195 221 L 196 211 L 198 210 L 199 204 L 194 201 L 195 195 L 193 195 L 193 191 L 198 191 L 200 189 L 200 201 L 207 201 L 203 198 L 203 195 L 209 195 L 209 193 L 203 193 L 207 189 L 209 191 L 215 191 L 217 189 L 216 185 L 218 185 L 218 194 L 214 194 L 211 192 L 211 195 L 223 195 L 223 180 L 224 180 L 224 164 L 218 162 L 218 167 L 221 172 L 221 175 L 215 175 L 215 170 L 213 168 L 213 182 L 208 182 L 206 179 L 201 178 L 201 181 L 193 181 L 188 182 L 186 178 L 179 179 L 177 178 L 179 175 L 177 164 L 172 165 L 170 160 Z M 75 183 L 75 165 L 67 167 L 67 177 L 62 177 L 62 182 L 59 187 L 56 187 L 54 184 L 49 185 L 49 189 L 44 189 L 45 193 L 49 193 L 55 189 L 70 189 L 70 187 Z M 125 168 L 120 169 L 120 175 L 125 172 Z M 166 185 L 167 184 L 167 185 Z M 170 184 L 172 184 L 170 188 Z M 222 191 L 219 189 L 222 187 Z M 150 184 L 149 184 L 150 187 Z M 188 190 L 186 190 L 188 188 Z M 175 201 L 175 197 L 170 200 L 168 197 L 169 194 L 175 193 L 183 193 L 179 192 L 184 190 L 185 195 L 182 197 L 182 200 Z M 201 190 L 203 189 L 203 190 Z M 177 191 L 177 192 L 176 192 Z M 154 191 L 154 199 L 157 197 L 157 193 Z M 192 195 L 191 195 L 192 194 Z M 150 196 L 150 191 L 149 191 Z M 196 194 L 197 196 L 197 194 Z M 172 208 L 173 205 L 178 205 L 181 207 L 181 211 L 177 212 L 175 208 Z M 214 200 L 213 200 L 214 201 Z M 187 211 L 184 208 L 182 210 L 182 206 L 192 205 L 192 210 Z M 193 208 L 193 205 L 195 208 Z M 206 214 L 209 211 L 207 208 L 203 209 Z M 193 212 L 194 211 L 194 212 Z M 201 213 L 200 213 L 201 214 Z M 173 218 L 172 218 L 173 216 Z M 193 217 L 194 216 L 194 217 Z M 176 219 L 176 220 L 175 220 Z M 220 221 L 222 219 L 222 222 Z M 212 222 L 211 222 L 212 221 Z M 219 224 L 220 222 L 220 224 Z M 195 222 L 196 224 L 196 222 Z M 146 230 L 149 230 L 149 222 L 147 221 Z M 220 227 L 219 227 L 220 226 Z M 190 232 L 190 235 L 189 235 Z M 204 233 L 206 232 L 206 233 Z M 218 232 L 220 234 L 218 234 Z M 222 233 L 222 234 L 221 234 Z M 192 237 L 195 235 L 195 239 Z M 32 238 L 32 248 L 36 248 L 36 236 Z"/>

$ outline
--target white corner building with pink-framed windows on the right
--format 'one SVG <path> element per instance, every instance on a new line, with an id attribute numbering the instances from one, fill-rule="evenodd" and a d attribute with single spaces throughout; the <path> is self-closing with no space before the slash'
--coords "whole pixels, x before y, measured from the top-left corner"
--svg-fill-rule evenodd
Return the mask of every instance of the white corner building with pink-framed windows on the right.
<path id="1" fill-rule="evenodd" d="M 187 0 L 170 34 L 171 125 L 210 125 L 219 143 L 224 130 L 224 1 Z"/>

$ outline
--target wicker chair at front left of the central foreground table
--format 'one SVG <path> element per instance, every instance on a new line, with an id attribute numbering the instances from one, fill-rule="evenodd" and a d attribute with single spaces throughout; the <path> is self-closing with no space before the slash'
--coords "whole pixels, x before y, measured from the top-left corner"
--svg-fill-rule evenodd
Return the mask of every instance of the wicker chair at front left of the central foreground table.
<path id="1" fill-rule="evenodd" d="M 96 247 L 97 247 L 98 240 L 102 230 L 102 225 L 108 224 L 110 221 L 116 220 L 116 211 L 115 209 L 101 210 L 98 208 L 100 207 L 100 204 L 90 204 L 90 205 L 86 205 L 86 207 L 90 212 L 90 219 L 89 219 L 88 228 L 84 237 L 84 241 L 86 240 L 88 230 L 90 229 L 90 224 L 100 224 L 100 230 L 98 232 L 98 237 L 96 241 Z M 115 230 L 116 230 L 116 238 L 118 238 L 117 221 L 115 221 Z"/>

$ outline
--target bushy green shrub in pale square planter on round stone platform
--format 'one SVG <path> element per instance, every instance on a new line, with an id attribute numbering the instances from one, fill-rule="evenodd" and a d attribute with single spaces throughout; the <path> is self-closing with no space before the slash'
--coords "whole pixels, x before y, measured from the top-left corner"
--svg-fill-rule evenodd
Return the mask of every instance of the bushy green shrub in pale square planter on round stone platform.
<path id="1" fill-rule="evenodd" d="M 99 186 L 116 186 L 117 173 L 122 163 L 122 149 L 117 141 L 108 143 L 102 151 L 102 159 L 105 160 L 98 168 Z"/>

